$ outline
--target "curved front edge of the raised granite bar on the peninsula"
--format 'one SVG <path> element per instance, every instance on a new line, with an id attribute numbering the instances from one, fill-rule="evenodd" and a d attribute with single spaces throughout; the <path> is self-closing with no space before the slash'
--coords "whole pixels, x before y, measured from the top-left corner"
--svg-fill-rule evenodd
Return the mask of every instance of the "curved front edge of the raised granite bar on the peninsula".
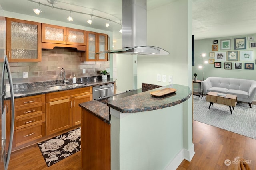
<path id="1" fill-rule="evenodd" d="M 116 107 L 116 106 L 111 105 L 111 104 L 108 104 L 108 106 L 113 108 L 113 109 L 115 109 L 115 110 L 117 110 L 117 111 L 120 111 L 122 113 L 137 113 L 137 112 L 152 111 L 152 110 L 163 109 L 163 108 L 166 108 L 166 107 L 175 106 L 177 104 L 181 104 L 182 102 L 185 102 L 186 100 L 188 100 L 191 95 L 192 95 L 192 93 L 190 93 L 189 96 L 186 96 L 186 98 L 183 98 L 181 100 L 177 100 L 177 101 L 172 102 L 172 103 L 168 103 L 168 104 L 164 104 L 164 105 L 159 105 L 159 106 L 138 108 L 138 109 L 122 109 L 120 107 Z"/>

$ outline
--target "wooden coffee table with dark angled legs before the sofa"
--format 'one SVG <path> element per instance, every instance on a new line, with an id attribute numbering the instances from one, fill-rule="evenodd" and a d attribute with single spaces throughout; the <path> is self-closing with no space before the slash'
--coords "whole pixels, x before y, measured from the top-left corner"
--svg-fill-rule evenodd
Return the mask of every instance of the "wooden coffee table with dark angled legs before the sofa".
<path id="1" fill-rule="evenodd" d="M 210 102 L 209 109 L 213 105 L 213 103 L 228 105 L 232 114 L 231 106 L 234 110 L 234 107 L 237 103 L 237 96 L 232 94 L 208 92 L 206 94 L 206 101 Z"/>

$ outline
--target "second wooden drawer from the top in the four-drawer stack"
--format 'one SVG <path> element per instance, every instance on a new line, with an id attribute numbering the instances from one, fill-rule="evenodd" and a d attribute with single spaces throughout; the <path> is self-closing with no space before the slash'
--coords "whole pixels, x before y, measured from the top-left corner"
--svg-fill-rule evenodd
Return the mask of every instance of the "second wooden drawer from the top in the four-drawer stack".
<path id="1" fill-rule="evenodd" d="M 44 113 L 44 112 L 45 112 L 45 104 L 38 104 L 34 106 L 19 108 L 19 109 L 15 109 L 15 119 L 20 119 L 22 117 L 36 115 L 38 113 Z"/>

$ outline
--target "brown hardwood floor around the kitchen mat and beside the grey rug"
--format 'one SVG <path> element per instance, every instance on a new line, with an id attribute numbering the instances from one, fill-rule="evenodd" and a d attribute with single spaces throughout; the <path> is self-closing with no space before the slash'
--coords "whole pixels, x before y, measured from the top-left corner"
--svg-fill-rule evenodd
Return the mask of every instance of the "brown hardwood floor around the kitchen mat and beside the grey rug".
<path id="1" fill-rule="evenodd" d="M 224 160 L 242 156 L 256 170 L 256 140 L 194 121 L 195 152 L 191 162 L 183 160 L 178 170 L 231 170 Z M 234 125 L 235 126 L 235 125 Z M 8 170 L 80 170 L 81 151 L 47 167 L 37 145 L 13 152 Z"/>

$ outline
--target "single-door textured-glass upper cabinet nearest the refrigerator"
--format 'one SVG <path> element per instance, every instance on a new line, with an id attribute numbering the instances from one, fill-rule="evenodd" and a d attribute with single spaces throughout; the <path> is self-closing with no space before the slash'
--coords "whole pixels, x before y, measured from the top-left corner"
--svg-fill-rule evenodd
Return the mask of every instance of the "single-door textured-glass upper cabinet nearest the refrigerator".
<path id="1" fill-rule="evenodd" d="M 10 62 L 41 61 L 41 23 L 6 18 L 6 53 Z"/>

